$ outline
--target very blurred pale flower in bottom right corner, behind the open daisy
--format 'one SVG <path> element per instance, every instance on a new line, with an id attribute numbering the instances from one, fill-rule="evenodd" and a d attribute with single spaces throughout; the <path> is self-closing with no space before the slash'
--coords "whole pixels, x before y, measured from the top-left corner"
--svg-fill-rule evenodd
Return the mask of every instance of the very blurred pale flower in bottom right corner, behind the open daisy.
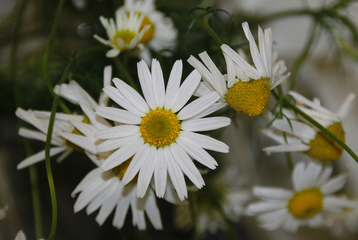
<path id="1" fill-rule="evenodd" d="M 341 201 L 346 201 L 347 206 L 341 212 L 329 214 L 328 221 L 332 234 L 341 236 L 358 232 L 358 198 L 341 196 Z"/>

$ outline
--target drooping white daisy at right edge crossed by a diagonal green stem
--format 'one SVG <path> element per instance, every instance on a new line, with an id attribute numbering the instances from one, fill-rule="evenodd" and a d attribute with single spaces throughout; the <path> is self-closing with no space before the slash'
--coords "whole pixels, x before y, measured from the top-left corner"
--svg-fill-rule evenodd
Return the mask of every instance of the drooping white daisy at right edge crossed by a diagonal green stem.
<path id="1" fill-rule="evenodd" d="M 355 94 L 348 94 L 337 113 L 322 107 L 317 98 L 310 101 L 293 91 L 290 91 L 289 95 L 295 99 L 298 108 L 345 142 L 342 121 L 347 118 L 355 103 Z M 323 162 L 336 161 L 342 156 L 343 148 L 320 132 L 319 129 L 305 119 L 297 117 L 297 114 L 291 110 L 284 109 L 283 113 L 290 119 L 291 125 L 286 119 L 276 119 L 272 123 L 273 129 L 261 130 L 261 133 L 265 136 L 280 143 L 277 146 L 263 148 L 262 150 L 267 154 L 272 152 L 303 152 L 311 158 Z M 286 139 L 282 134 L 283 132 L 286 133 Z"/>

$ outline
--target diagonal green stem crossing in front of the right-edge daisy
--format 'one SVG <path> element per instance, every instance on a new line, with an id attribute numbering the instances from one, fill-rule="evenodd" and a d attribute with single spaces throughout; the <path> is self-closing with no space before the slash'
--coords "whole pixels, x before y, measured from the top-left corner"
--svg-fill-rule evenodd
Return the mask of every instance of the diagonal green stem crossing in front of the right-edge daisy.
<path id="1" fill-rule="evenodd" d="M 319 124 L 317 121 L 315 121 L 313 118 L 308 116 L 306 113 L 304 113 L 301 109 L 297 108 L 295 104 L 289 102 L 287 99 L 283 99 L 284 103 L 289 106 L 292 110 L 294 110 L 296 113 L 300 114 L 302 117 L 304 117 L 307 121 L 312 123 L 314 126 L 316 126 L 321 132 L 326 134 L 328 137 L 332 138 L 335 142 L 337 142 L 341 147 L 344 148 L 345 151 L 349 153 L 350 156 L 353 157 L 353 159 L 358 163 L 358 156 L 350 149 L 341 139 L 339 139 L 337 136 L 335 136 L 332 132 L 330 132 L 327 128 L 323 127 L 321 124 Z"/>

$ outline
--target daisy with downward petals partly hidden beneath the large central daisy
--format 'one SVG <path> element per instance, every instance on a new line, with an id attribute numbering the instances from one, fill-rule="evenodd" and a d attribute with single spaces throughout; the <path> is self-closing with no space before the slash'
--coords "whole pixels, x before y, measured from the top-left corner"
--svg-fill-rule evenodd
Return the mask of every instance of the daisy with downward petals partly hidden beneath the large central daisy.
<path id="1" fill-rule="evenodd" d="M 89 172 L 72 192 L 72 197 L 81 192 L 74 204 L 74 212 L 87 206 L 86 212 L 89 215 L 100 209 L 96 216 L 96 222 L 101 226 L 115 209 L 112 225 L 121 229 L 128 209 L 131 207 L 132 223 L 139 230 L 146 228 L 144 213 L 154 228 L 161 230 L 163 226 L 153 190 L 148 188 L 144 197 L 139 199 L 136 195 L 136 179 L 126 186 L 122 184 L 122 178 L 130 160 L 108 171 L 103 171 L 99 167 L 99 162 L 94 162 L 98 167 Z"/>

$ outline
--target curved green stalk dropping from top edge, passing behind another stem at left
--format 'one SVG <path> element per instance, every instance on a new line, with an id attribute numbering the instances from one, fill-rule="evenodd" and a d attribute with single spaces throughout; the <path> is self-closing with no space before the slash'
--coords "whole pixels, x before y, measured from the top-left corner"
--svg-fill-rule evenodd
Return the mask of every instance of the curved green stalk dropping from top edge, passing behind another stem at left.
<path id="1" fill-rule="evenodd" d="M 53 22 L 51 33 L 50 33 L 50 38 L 48 40 L 48 43 L 47 43 L 47 46 L 46 46 L 46 49 L 45 49 L 45 53 L 44 53 L 44 57 L 42 59 L 42 72 L 43 72 L 43 75 L 44 75 L 45 84 L 46 84 L 50 94 L 53 97 L 55 97 L 56 94 L 53 92 L 53 86 L 52 86 L 52 84 L 50 82 L 50 77 L 49 77 L 48 70 L 47 70 L 47 63 L 48 63 L 48 56 L 50 55 L 50 52 L 51 52 L 53 40 L 55 38 L 55 34 L 56 34 L 56 31 L 57 31 L 57 28 L 58 28 L 58 23 L 60 21 L 63 3 L 64 3 L 64 0 L 59 0 L 58 1 L 55 20 Z M 64 102 L 59 101 L 59 106 L 61 107 L 63 112 L 71 114 L 71 111 L 66 106 L 66 104 L 64 104 Z"/>

